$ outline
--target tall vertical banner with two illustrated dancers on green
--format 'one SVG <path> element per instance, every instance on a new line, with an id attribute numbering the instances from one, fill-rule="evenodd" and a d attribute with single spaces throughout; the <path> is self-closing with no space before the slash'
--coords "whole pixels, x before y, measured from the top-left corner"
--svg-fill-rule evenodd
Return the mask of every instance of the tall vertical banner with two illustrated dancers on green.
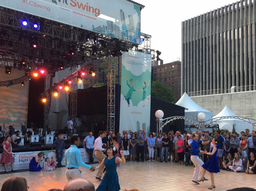
<path id="1" fill-rule="evenodd" d="M 129 50 L 122 55 L 120 128 L 150 131 L 152 55 Z"/>

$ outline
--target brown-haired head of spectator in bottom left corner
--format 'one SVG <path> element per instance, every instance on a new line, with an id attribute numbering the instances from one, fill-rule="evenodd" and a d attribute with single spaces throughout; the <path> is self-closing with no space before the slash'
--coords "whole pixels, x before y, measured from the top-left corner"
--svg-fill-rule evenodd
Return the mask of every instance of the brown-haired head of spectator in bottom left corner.
<path id="1" fill-rule="evenodd" d="M 1 191 L 27 191 L 28 184 L 27 180 L 23 177 L 13 176 L 5 180 Z"/>

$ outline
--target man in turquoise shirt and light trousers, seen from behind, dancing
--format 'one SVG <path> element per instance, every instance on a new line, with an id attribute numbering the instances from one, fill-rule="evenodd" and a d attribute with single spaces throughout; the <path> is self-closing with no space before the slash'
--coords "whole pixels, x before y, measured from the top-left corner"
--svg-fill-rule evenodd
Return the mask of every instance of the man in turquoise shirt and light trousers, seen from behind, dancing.
<path id="1" fill-rule="evenodd" d="M 84 168 L 88 168 L 92 171 L 95 171 L 95 167 L 92 167 L 88 164 L 85 164 L 81 158 L 81 152 L 77 148 L 80 144 L 80 139 L 77 135 L 73 135 L 70 138 L 71 145 L 68 150 L 65 152 L 65 166 L 66 177 L 69 180 L 74 179 L 76 177 L 84 177 L 83 173 L 79 170 L 79 166 Z"/>

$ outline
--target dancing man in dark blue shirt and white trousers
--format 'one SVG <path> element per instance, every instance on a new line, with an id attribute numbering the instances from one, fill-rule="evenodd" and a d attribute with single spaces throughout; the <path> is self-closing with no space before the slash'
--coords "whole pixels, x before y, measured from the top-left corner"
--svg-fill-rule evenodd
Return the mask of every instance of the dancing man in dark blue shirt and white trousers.
<path id="1" fill-rule="evenodd" d="M 199 184 L 199 182 L 197 182 L 197 178 L 198 178 L 199 174 L 200 174 L 200 176 L 202 174 L 202 170 L 203 170 L 202 165 L 204 164 L 204 162 L 201 161 L 201 159 L 198 156 L 198 153 L 200 152 L 200 153 L 204 154 L 204 151 L 198 149 L 198 145 L 200 145 L 200 143 L 202 142 L 202 140 L 198 141 L 198 139 L 199 139 L 198 135 L 194 134 L 192 136 L 192 138 L 193 138 L 193 140 L 190 145 L 190 155 L 191 155 L 190 160 L 195 165 L 195 171 L 194 171 L 194 176 L 193 176 L 192 182 Z M 203 139 L 202 136 L 201 136 L 201 139 Z M 208 179 L 204 178 L 204 180 L 208 180 Z"/>

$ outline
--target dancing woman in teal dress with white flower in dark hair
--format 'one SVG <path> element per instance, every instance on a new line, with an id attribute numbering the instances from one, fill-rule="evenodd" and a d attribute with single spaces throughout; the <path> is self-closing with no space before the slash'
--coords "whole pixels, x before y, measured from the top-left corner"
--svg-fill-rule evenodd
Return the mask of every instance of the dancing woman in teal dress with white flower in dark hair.
<path id="1" fill-rule="evenodd" d="M 100 165 L 95 168 L 95 170 L 98 170 L 105 166 L 106 170 L 105 175 L 103 176 L 102 181 L 100 182 L 100 185 L 96 189 L 96 191 L 118 191 L 121 189 L 119 185 L 118 175 L 116 172 L 116 166 L 118 162 L 125 163 L 125 159 L 122 149 L 120 150 L 122 159 L 115 156 L 117 152 L 118 150 L 116 149 L 116 147 L 108 147 L 108 156 L 104 158 Z"/>

